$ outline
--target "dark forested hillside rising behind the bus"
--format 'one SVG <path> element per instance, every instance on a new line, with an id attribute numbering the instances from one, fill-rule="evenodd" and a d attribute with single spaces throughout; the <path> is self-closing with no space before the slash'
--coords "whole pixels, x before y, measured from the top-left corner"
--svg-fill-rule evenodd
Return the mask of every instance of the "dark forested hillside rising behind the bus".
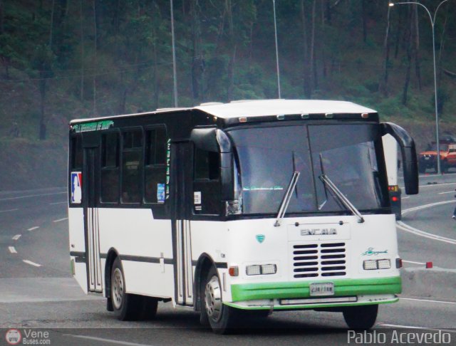
<path id="1" fill-rule="evenodd" d="M 422 1 L 431 14 L 439 2 Z M 277 98 L 272 0 L 173 9 L 179 106 Z M 435 18 L 442 134 L 456 132 L 455 19 L 451 0 Z M 282 98 L 351 100 L 407 127 L 420 147 L 435 136 L 423 7 L 276 0 L 276 20 Z M 168 0 L 0 0 L 0 189 L 65 184 L 71 118 L 172 107 L 171 43 Z M 39 169 L 25 161 L 35 151 L 58 168 L 32 184 L 21 177 Z"/>

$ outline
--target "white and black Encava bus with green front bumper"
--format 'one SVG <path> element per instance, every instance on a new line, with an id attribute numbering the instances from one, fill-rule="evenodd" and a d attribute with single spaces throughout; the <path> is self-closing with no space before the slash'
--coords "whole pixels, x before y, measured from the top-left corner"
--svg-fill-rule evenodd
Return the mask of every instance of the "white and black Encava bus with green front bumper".
<path id="1" fill-rule="evenodd" d="M 348 102 L 254 100 L 73 120 L 73 276 L 120 320 L 157 301 L 215 332 L 279 310 L 351 328 L 398 301 L 401 266 L 382 136 L 418 193 L 413 139 Z"/>

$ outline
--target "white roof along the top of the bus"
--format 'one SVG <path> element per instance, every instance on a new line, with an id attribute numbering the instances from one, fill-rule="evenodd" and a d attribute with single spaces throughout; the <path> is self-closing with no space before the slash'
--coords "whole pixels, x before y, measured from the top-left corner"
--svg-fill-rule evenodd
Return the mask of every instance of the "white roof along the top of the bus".
<path id="1" fill-rule="evenodd" d="M 129 115 L 115 115 L 110 117 L 96 117 L 71 120 L 70 124 L 78 122 L 112 119 L 115 117 L 129 117 L 148 115 L 151 113 L 175 112 L 182 110 L 200 110 L 222 119 L 233 117 L 260 117 L 268 115 L 290 114 L 353 114 L 376 113 L 376 110 L 366 108 L 356 103 L 332 100 L 239 100 L 230 103 L 203 103 L 194 108 L 162 108 L 153 112 L 143 112 Z"/>

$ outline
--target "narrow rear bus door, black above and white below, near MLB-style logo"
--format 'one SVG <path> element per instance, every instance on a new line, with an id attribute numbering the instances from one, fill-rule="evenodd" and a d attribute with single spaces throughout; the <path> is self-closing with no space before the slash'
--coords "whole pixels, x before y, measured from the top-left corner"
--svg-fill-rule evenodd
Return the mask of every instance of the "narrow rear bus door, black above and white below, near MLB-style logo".
<path id="1" fill-rule="evenodd" d="M 86 143 L 84 143 L 86 144 Z M 98 147 L 84 145 L 83 170 L 83 209 L 84 234 L 86 237 L 86 267 L 88 291 L 101 293 L 102 271 L 100 263 L 100 229 L 98 208 L 96 208 L 96 167 L 98 162 Z"/>

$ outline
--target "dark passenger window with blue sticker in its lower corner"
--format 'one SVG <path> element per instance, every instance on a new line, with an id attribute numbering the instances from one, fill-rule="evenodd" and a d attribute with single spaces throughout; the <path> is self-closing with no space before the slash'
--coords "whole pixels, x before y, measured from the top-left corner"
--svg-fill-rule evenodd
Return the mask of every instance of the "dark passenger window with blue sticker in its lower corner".
<path id="1" fill-rule="evenodd" d="M 166 147 L 165 127 L 146 131 L 145 154 L 145 202 L 163 203 L 166 184 Z"/>

